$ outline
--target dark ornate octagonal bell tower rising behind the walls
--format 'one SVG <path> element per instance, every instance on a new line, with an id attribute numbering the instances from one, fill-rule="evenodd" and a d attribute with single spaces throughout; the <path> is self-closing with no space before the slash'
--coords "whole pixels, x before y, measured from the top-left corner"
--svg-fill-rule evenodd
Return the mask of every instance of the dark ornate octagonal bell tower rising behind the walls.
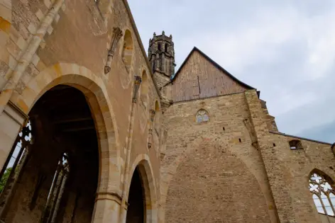
<path id="1" fill-rule="evenodd" d="M 158 87 L 170 82 L 175 74 L 175 46 L 172 35 L 167 37 L 164 31 L 162 35 L 153 33 L 153 39 L 149 40 L 148 59 Z"/>

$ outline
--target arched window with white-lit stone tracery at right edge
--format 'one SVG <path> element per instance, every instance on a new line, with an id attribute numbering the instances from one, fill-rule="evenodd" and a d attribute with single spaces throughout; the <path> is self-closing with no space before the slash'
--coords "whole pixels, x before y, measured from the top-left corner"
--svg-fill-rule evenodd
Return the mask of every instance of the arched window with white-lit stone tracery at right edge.
<path id="1" fill-rule="evenodd" d="M 309 191 L 312 193 L 317 212 L 334 216 L 335 191 L 329 177 L 313 172 L 309 176 Z"/>

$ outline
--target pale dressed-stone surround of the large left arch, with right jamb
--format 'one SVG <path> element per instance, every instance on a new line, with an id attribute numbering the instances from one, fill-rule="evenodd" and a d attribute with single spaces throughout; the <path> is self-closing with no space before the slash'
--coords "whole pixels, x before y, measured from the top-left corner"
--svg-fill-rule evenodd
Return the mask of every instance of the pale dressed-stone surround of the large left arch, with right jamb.
<path id="1" fill-rule="evenodd" d="M 121 198 L 119 136 L 118 132 L 114 131 L 117 128 L 116 118 L 101 78 L 77 64 L 57 63 L 35 76 L 28 82 L 21 95 L 12 98 L 11 101 L 23 112 L 29 113 L 45 92 L 60 84 L 77 88 L 84 94 L 97 131 L 99 183 L 94 212 L 99 210 L 99 213 L 94 215 L 94 222 L 102 222 L 105 219 L 117 220 L 118 200 Z M 114 208 L 113 212 L 111 207 Z M 104 215 L 101 215 L 101 212 Z"/>

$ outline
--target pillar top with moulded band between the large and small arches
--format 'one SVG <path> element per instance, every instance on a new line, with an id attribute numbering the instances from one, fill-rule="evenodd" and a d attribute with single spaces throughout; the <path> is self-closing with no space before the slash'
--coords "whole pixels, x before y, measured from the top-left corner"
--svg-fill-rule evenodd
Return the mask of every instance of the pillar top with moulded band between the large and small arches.
<path id="1" fill-rule="evenodd" d="M 120 222 L 121 196 L 117 193 L 98 193 L 92 223 Z"/>

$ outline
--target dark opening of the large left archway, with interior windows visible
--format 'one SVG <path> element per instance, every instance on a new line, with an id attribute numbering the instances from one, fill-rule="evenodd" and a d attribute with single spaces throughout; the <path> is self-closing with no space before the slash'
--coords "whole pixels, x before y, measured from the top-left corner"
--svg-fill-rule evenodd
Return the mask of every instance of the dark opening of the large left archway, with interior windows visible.
<path id="1" fill-rule="evenodd" d="M 11 177 L 0 196 L 4 222 L 90 222 L 99 179 L 92 116 L 84 94 L 62 84 L 33 105 L 31 143 L 18 137 L 6 166 Z"/>

